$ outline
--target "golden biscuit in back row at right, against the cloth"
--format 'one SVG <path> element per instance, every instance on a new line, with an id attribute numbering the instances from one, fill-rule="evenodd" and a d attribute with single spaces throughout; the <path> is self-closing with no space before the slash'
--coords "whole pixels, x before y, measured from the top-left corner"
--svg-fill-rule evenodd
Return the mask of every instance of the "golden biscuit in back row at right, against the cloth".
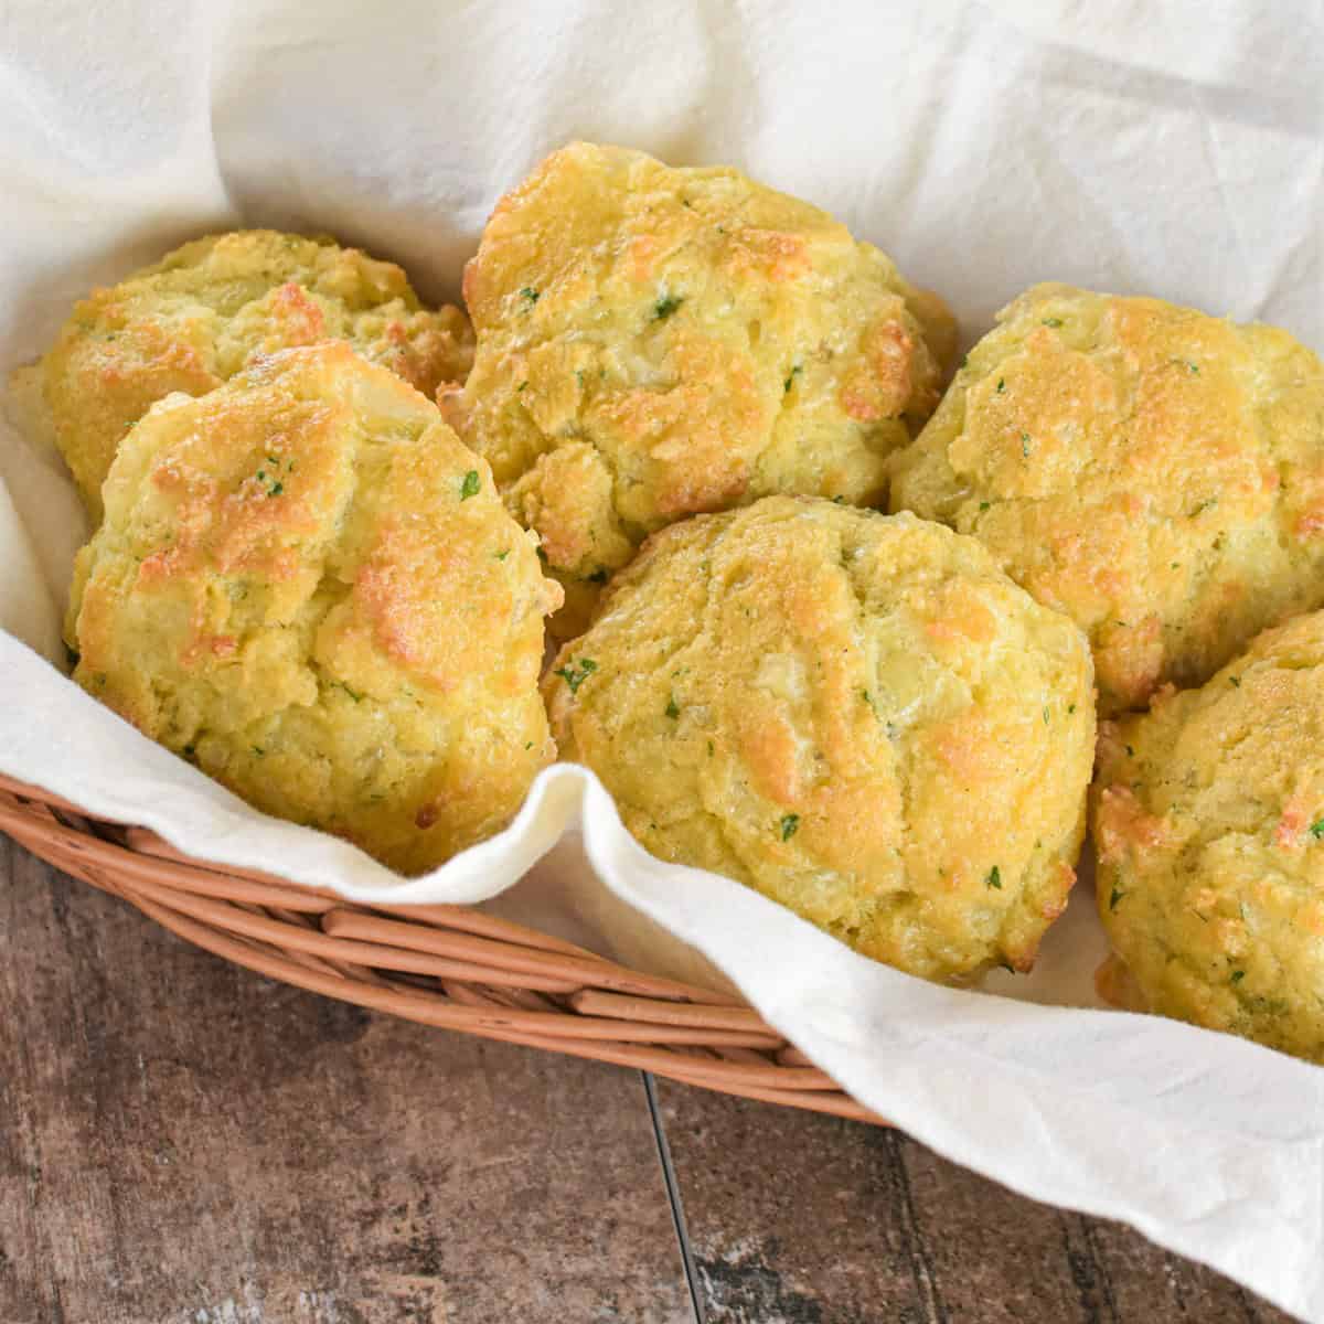
<path id="1" fill-rule="evenodd" d="M 1039 285 L 896 457 L 891 506 L 976 535 L 1088 633 L 1103 711 L 1140 707 L 1324 604 L 1324 367 L 1274 327 Z"/>

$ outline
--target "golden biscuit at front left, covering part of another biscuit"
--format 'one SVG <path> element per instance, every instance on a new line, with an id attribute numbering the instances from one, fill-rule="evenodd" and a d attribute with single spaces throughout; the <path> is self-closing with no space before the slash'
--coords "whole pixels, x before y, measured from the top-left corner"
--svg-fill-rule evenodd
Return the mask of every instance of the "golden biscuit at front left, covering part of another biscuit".
<path id="1" fill-rule="evenodd" d="M 436 405 L 343 342 L 159 401 L 105 498 L 74 677 L 260 809 L 417 873 L 553 757 L 560 589 Z"/>

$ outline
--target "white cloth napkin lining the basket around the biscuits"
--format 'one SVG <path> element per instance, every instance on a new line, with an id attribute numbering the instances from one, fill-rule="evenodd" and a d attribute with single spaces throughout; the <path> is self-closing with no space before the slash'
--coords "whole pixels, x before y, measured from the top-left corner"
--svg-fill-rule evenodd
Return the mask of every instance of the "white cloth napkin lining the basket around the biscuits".
<path id="1" fill-rule="evenodd" d="M 571 138 L 736 164 L 828 207 L 969 338 L 1064 279 L 1321 348 L 1321 87 L 1312 0 L 0 0 L 0 369 L 91 285 L 238 224 L 330 230 L 453 295 L 498 195 Z M 44 661 L 82 535 L 58 461 L 0 432 L 4 772 L 356 899 L 478 902 L 542 861 L 507 911 L 571 923 L 600 878 L 940 1153 L 1324 1320 L 1324 1071 L 1098 1010 L 1087 895 L 1033 977 L 940 989 L 650 859 L 565 767 L 502 837 L 402 882 L 256 814 Z"/>

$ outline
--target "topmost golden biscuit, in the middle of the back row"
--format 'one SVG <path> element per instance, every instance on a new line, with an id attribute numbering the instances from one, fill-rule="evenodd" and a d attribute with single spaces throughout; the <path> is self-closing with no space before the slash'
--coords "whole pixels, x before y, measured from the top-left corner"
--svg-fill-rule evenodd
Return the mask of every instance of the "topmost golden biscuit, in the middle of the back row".
<path id="1" fill-rule="evenodd" d="M 886 496 L 955 324 L 870 244 L 733 169 L 573 143 L 465 271 L 473 376 L 442 400 L 579 621 L 645 535 L 769 493 Z"/>

